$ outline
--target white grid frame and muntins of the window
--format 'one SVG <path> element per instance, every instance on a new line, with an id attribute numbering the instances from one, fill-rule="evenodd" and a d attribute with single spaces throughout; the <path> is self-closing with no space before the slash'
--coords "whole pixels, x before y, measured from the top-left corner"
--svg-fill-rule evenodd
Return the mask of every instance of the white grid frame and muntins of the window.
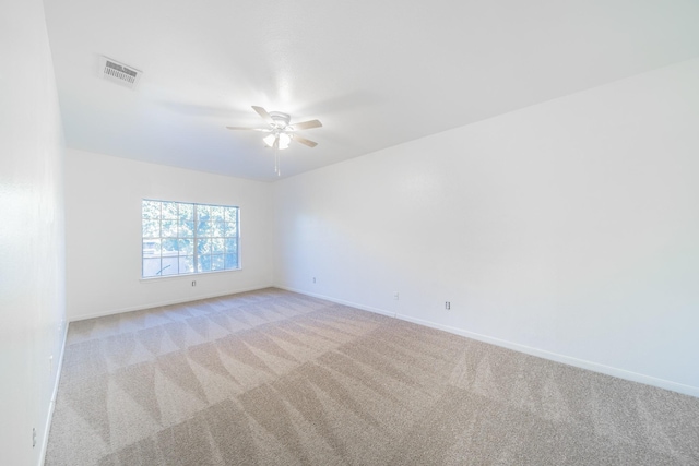
<path id="1" fill-rule="evenodd" d="M 157 216 L 151 216 L 146 214 L 146 203 L 158 203 Z M 171 214 L 171 207 L 177 207 L 177 213 Z M 189 213 L 182 212 L 182 206 L 187 206 L 191 210 L 191 216 Z M 164 212 L 164 207 L 170 210 L 170 217 Z M 215 214 L 217 219 L 210 219 L 204 210 L 220 208 L 221 211 Z M 202 217 L 206 217 L 202 219 Z M 147 235 L 147 229 L 153 227 L 153 220 L 157 223 L 157 236 Z M 169 235 L 164 231 L 164 223 L 175 222 L 175 235 L 169 230 Z M 150 225 L 149 225 L 150 224 Z M 191 224 L 189 230 L 182 234 L 182 225 Z M 218 224 L 215 225 L 214 224 Z M 233 224 L 230 226 L 229 224 Z M 170 226 L 171 228 L 171 226 Z M 228 234 L 228 228 L 235 229 L 235 235 Z M 202 232 L 206 231 L 209 232 Z M 188 236 L 187 232 L 190 235 Z M 216 235 L 218 232 L 218 235 Z M 181 236 L 180 236 L 181 235 Z M 170 253 L 165 255 L 163 246 L 165 242 L 176 244 L 175 254 Z M 233 243 L 230 243 L 233 241 Z M 153 248 L 146 248 L 146 244 L 152 244 Z M 186 248 L 188 253 L 182 254 L 182 247 Z M 214 249 L 217 248 L 217 249 Z M 146 250 L 153 249 L 157 251 L 157 255 L 146 255 Z M 202 251 L 202 249 L 205 250 Z M 235 252 L 233 252 L 235 251 Z M 202 267 L 201 264 L 206 262 L 209 258 L 208 266 Z M 157 259 L 159 270 L 155 274 L 146 274 L 146 260 Z M 170 264 L 165 265 L 164 259 L 169 259 Z M 186 272 L 180 272 L 182 268 L 182 260 L 185 264 L 187 260 L 191 260 L 190 265 Z M 174 260 L 174 261 L 173 261 Z M 215 263 L 218 265 L 214 267 Z M 232 266 L 228 261 L 235 260 L 235 264 Z M 170 267 L 173 264 L 177 265 L 177 273 L 163 274 L 163 271 Z M 191 276 L 201 274 L 216 274 L 223 272 L 235 272 L 241 270 L 240 260 L 240 207 L 237 205 L 223 205 L 212 203 L 197 203 L 197 202 L 181 202 L 181 201 L 165 201 L 159 199 L 141 199 L 141 279 L 151 280 L 159 278 L 169 278 L 177 276 Z"/>

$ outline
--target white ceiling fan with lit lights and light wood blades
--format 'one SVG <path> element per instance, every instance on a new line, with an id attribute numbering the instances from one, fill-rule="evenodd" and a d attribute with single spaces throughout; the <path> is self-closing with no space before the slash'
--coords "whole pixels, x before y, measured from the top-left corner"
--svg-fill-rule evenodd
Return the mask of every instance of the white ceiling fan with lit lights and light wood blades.
<path id="1" fill-rule="evenodd" d="M 229 130 L 249 130 L 249 131 L 260 131 L 263 133 L 269 133 L 266 136 L 262 138 L 264 144 L 269 147 L 274 148 L 274 172 L 277 176 L 281 176 L 280 169 L 280 156 L 279 151 L 288 148 L 288 145 L 292 141 L 299 142 L 309 147 L 316 147 L 318 145 L 317 142 L 308 140 L 306 138 L 301 138 L 296 134 L 298 130 L 310 130 L 312 128 L 320 128 L 322 123 L 318 120 L 309 120 L 303 121 L 300 123 L 291 124 L 291 119 L 288 113 L 283 113 L 281 111 L 266 111 L 262 107 L 252 106 L 252 109 L 257 111 L 257 113 L 262 117 L 262 119 L 269 124 L 269 128 L 247 128 L 247 127 L 226 127 Z"/>

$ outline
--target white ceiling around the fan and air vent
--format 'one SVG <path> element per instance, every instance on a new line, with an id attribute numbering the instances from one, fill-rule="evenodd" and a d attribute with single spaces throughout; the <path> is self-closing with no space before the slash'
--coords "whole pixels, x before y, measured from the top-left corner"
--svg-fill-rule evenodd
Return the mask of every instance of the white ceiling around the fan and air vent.
<path id="1" fill-rule="evenodd" d="M 699 56 L 697 0 L 47 0 L 69 147 L 273 181 Z M 135 89 L 99 56 L 143 71 Z"/>

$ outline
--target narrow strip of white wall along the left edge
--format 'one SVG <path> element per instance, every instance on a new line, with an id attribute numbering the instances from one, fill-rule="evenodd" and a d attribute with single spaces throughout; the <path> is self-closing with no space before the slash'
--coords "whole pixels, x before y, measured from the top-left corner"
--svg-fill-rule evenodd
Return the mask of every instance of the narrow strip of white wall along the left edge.
<path id="1" fill-rule="evenodd" d="M 0 3 L 0 464 L 22 466 L 40 462 L 64 335 L 63 141 L 40 0 Z"/>

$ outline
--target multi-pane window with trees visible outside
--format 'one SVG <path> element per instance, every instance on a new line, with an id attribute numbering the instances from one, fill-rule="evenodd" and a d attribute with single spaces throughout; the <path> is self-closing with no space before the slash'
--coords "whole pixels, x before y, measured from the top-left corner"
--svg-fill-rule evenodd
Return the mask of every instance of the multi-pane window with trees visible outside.
<path id="1" fill-rule="evenodd" d="M 144 278 L 240 268 L 238 207 L 144 199 L 142 218 Z"/>

